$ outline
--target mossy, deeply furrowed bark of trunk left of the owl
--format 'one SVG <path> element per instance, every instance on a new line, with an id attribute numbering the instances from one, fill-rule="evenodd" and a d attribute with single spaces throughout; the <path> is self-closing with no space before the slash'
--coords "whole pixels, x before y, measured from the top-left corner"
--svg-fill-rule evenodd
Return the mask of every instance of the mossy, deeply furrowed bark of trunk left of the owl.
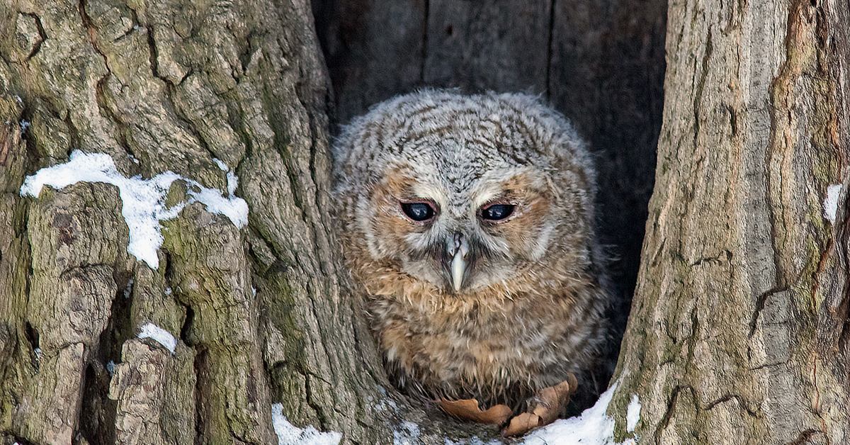
<path id="1" fill-rule="evenodd" d="M 422 420 L 382 390 L 337 265 L 308 3 L 14 0 L 0 56 L 0 442 L 276 443 L 273 402 L 345 443 Z M 190 204 L 151 268 L 127 254 L 115 186 L 20 197 L 77 149 L 226 195 L 218 158 L 250 221 Z M 137 338 L 147 322 L 173 353 Z"/>

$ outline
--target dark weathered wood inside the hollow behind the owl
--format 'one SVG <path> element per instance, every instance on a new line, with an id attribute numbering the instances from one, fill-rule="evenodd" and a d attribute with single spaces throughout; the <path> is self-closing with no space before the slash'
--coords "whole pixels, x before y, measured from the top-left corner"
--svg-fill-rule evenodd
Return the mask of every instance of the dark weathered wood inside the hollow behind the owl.
<path id="1" fill-rule="evenodd" d="M 655 172 L 666 3 L 317 0 L 314 11 L 337 123 L 423 87 L 541 94 L 570 118 L 597 155 L 600 233 L 617 297 L 613 366 Z M 598 388 L 611 371 L 598 370 Z"/>

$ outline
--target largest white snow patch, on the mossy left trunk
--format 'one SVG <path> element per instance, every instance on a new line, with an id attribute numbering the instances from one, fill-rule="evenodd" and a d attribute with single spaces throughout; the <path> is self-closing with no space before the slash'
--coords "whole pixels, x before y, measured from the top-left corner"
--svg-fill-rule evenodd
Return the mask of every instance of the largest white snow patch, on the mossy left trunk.
<path id="1" fill-rule="evenodd" d="M 229 197 L 222 197 L 220 191 L 203 187 L 195 180 L 185 179 L 171 171 L 157 174 L 150 180 L 142 179 L 141 175 L 125 178 L 118 173 L 112 157 L 105 153 L 75 150 L 68 163 L 42 168 L 36 174 L 27 176 L 24 185 L 20 187 L 20 195 L 38 197 L 44 185 L 62 188 L 81 181 L 116 185 L 122 199 L 122 215 L 130 229 L 127 252 L 152 269 L 157 269 L 159 258 L 156 250 L 163 240 L 159 222 L 176 217 L 188 204 L 178 203 L 172 208 L 165 207 L 168 188 L 175 180 L 184 180 L 190 185 L 188 203 L 203 203 L 207 211 L 224 214 L 237 227 L 247 224 L 248 205 L 245 200 L 233 196 L 233 191 L 229 191 Z"/>

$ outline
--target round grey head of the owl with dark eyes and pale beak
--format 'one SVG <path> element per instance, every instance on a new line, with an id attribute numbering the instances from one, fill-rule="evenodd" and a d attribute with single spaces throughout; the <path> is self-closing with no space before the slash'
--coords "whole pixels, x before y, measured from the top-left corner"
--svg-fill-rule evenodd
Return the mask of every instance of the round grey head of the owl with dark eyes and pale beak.
<path id="1" fill-rule="evenodd" d="M 592 262 L 592 159 L 533 96 L 402 95 L 344 128 L 334 157 L 347 255 L 381 275 L 360 281 L 462 296 L 578 280 Z"/>

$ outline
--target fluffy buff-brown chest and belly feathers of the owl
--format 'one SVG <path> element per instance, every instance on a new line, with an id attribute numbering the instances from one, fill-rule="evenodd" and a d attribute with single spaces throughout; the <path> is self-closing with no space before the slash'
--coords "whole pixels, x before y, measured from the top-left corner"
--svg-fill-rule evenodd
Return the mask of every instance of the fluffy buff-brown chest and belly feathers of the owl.
<path id="1" fill-rule="evenodd" d="M 496 402 L 587 367 L 601 329 L 593 296 L 512 293 L 510 284 L 446 295 L 396 277 L 371 295 L 369 309 L 388 368 L 402 379 L 431 397 Z"/>

